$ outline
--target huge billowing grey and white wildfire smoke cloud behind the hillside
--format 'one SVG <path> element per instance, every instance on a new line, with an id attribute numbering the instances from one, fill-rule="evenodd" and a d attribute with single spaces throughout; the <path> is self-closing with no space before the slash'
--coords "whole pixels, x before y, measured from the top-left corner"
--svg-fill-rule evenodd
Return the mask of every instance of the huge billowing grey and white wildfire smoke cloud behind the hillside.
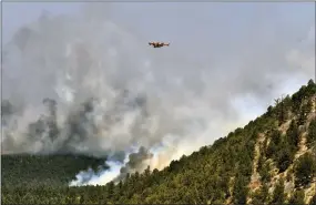
<path id="1" fill-rule="evenodd" d="M 108 6 L 41 17 L 6 44 L 2 153 L 109 155 L 109 171 L 72 184 L 106 183 L 211 144 L 314 78 L 313 28 L 296 48 L 257 24 L 257 39 L 198 63 L 181 44 L 147 47 Z"/>

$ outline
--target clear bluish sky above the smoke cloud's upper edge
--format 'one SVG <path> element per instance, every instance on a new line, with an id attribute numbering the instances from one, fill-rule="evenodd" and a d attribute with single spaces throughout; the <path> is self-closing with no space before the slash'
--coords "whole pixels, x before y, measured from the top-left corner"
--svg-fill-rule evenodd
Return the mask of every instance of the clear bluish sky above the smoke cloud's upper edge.
<path id="1" fill-rule="evenodd" d="M 3 2 L 3 40 L 24 23 L 34 21 L 43 11 L 51 14 L 74 13 L 83 3 L 79 2 Z M 283 32 L 288 41 L 299 43 L 306 31 L 315 24 L 314 3 L 102 3 L 104 13 L 124 23 L 144 39 L 170 41 L 180 50 L 195 54 L 196 61 L 210 59 L 207 50 L 223 53 L 238 52 L 231 48 L 249 43 L 258 33 L 276 35 Z M 102 12 L 102 11 L 101 11 Z M 259 25 L 258 25 L 259 24 Z M 58 31 L 57 31 L 58 32 Z M 239 39 L 243 39 L 241 41 Z M 254 41 L 259 41 L 255 39 Z M 227 42 L 228 41 L 228 42 Z M 146 42 L 144 42 L 146 43 Z M 190 49 L 188 49 L 190 48 Z M 203 50 L 203 51 L 202 51 Z M 218 57 L 214 57 L 218 60 Z"/>

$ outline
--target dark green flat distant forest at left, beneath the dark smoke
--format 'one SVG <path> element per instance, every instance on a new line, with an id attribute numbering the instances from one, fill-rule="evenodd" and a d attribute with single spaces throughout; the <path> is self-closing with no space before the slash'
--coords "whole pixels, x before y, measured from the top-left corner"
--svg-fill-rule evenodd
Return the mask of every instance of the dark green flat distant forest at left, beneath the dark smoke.
<path id="1" fill-rule="evenodd" d="M 2 155 L 1 183 L 2 187 L 37 185 L 68 185 L 75 174 L 91 167 L 106 168 L 105 158 L 84 155 Z"/>

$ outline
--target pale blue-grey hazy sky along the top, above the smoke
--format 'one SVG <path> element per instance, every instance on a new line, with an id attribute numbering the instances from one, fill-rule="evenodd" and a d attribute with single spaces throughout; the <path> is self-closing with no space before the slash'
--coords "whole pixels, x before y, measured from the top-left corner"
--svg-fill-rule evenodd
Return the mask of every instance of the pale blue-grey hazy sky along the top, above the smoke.
<path id="1" fill-rule="evenodd" d="M 6 40 L 24 23 L 35 20 L 43 11 L 52 14 L 77 12 L 83 3 L 79 2 L 3 2 L 3 34 Z M 264 25 L 294 24 L 296 31 L 286 37 L 299 38 L 299 31 L 306 30 L 315 22 L 314 3 L 249 3 L 249 2 L 207 2 L 207 3 L 106 3 L 111 16 L 132 23 L 136 30 L 149 39 L 162 38 L 175 41 L 207 38 L 216 41 L 226 35 L 238 38 L 246 34 L 253 23 L 261 21 Z M 198 22 L 198 23 L 197 23 Z M 217 31 L 214 31 L 216 27 Z M 238 30 L 238 31 L 237 31 Z M 234 33 L 232 35 L 231 33 Z M 286 32 L 286 31 L 285 31 Z M 180 35 L 181 33 L 181 35 Z M 223 37 L 225 35 L 225 37 Z M 211 39 L 212 37 L 212 39 Z M 185 39 L 188 40 L 188 39 Z M 234 41 L 234 39 L 232 39 Z"/>

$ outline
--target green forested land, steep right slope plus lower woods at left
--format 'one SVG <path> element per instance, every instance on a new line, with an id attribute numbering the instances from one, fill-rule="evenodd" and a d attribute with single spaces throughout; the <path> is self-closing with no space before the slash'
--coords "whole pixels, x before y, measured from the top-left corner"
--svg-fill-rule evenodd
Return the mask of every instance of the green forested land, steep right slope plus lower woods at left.
<path id="1" fill-rule="evenodd" d="M 105 186 L 47 186 L 67 182 L 86 164 L 72 157 L 2 156 L 2 204 L 316 204 L 316 84 L 213 145 L 163 171 L 128 175 Z M 100 162 L 100 161 L 95 161 Z M 52 164 L 51 164 L 52 163 Z M 89 162 L 90 163 L 90 162 Z M 26 165 L 27 164 L 27 165 Z M 68 164 L 68 168 L 63 166 Z M 98 165 L 100 163 L 96 163 Z M 20 175 L 23 172 L 23 175 Z M 4 174 L 3 174 L 4 173 Z M 32 186 L 17 186 L 38 178 Z M 54 184 L 54 183 L 50 183 Z"/>

